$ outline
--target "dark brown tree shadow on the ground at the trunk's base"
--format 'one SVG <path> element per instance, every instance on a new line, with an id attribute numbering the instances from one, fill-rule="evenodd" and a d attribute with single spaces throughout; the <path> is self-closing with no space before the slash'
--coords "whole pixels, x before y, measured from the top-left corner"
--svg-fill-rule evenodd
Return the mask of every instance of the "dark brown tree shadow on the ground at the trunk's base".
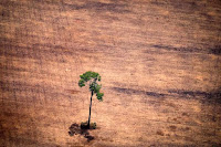
<path id="1" fill-rule="evenodd" d="M 84 136 L 84 138 L 87 139 L 87 141 L 91 141 L 94 139 L 94 136 L 90 135 L 88 129 L 81 128 L 81 126 L 76 123 L 72 124 L 69 129 L 70 129 L 70 132 L 69 132 L 70 136 L 82 135 L 82 136 Z"/>

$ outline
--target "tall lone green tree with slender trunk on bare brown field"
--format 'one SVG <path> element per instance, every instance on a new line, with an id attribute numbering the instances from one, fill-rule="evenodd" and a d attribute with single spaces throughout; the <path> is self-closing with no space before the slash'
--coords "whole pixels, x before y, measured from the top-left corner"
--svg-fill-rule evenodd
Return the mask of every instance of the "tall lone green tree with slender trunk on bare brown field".
<path id="1" fill-rule="evenodd" d="M 99 93 L 99 90 L 102 88 L 102 85 L 97 84 L 97 81 L 101 81 L 101 76 L 98 73 L 95 72 L 86 72 L 82 75 L 80 75 L 81 80 L 78 81 L 78 86 L 83 87 L 85 86 L 86 82 L 90 82 L 90 91 L 91 91 L 91 104 L 90 104 L 90 116 L 87 122 L 87 128 L 90 128 L 90 122 L 91 122 L 91 109 L 92 109 L 92 97 L 94 94 L 96 94 L 96 97 L 98 101 L 103 101 L 104 93 Z"/>

